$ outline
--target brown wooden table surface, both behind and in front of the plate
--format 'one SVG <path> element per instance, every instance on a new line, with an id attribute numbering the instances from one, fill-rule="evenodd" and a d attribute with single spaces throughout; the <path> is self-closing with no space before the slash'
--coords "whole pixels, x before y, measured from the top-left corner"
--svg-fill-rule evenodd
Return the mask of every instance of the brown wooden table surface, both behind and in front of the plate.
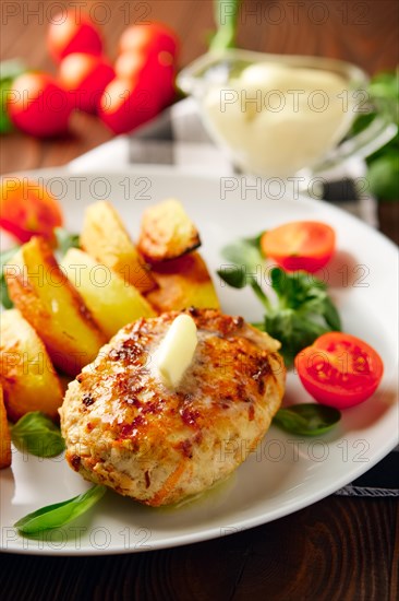
<path id="1" fill-rule="evenodd" d="M 44 40 L 53 4 L 2 1 L 2 59 L 21 57 L 31 67 L 53 70 Z M 98 20 L 106 19 L 111 58 L 122 30 L 143 17 L 165 21 L 179 33 L 181 66 L 205 50 L 206 32 L 213 27 L 207 0 L 81 4 L 98 11 Z M 35 16 L 32 11 L 38 7 L 41 13 Z M 341 58 L 372 74 L 398 63 L 398 7 L 396 1 L 244 2 L 239 42 L 253 50 Z M 39 142 L 13 133 L 1 141 L 1 173 L 61 165 L 109 138 L 94 117 L 82 115 L 76 115 L 68 139 Z M 398 241 L 398 204 L 384 204 L 380 221 L 382 229 Z M 394 498 L 330 496 L 263 527 L 184 547 L 80 558 L 4 554 L 0 597 L 392 600 L 398 593 L 398 509 Z"/>

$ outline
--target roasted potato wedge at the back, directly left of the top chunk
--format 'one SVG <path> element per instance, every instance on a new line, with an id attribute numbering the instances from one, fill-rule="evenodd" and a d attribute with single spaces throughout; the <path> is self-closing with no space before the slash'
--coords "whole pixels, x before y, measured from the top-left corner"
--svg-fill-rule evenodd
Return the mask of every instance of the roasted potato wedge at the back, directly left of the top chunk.
<path id="1" fill-rule="evenodd" d="M 80 243 L 96 261 L 117 271 L 140 292 L 155 288 L 144 259 L 109 202 L 95 202 L 86 209 Z"/>

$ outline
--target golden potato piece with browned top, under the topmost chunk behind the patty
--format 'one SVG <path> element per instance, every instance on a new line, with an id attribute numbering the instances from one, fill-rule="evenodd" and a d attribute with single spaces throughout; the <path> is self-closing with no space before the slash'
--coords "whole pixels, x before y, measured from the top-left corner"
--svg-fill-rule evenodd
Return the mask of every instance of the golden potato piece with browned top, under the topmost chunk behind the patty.
<path id="1" fill-rule="evenodd" d="M 158 313 L 186 307 L 219 308 L 213 281 L 198 252 L 154 266 L 158 288 L 146 295 Z"/>

